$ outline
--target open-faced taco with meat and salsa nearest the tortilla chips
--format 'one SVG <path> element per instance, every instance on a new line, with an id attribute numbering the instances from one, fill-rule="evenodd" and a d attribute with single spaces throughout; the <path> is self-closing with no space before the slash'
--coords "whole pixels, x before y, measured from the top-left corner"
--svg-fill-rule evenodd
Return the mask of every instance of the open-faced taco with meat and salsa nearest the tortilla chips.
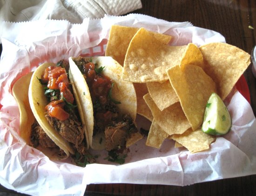
<path id="1" fill-rule="evenodd" d="M 132 82 L 121 80 L 122 66 L 112 57 L 70 57 L 70 70 L 94 150 L 121 151 L 142 136 L 135 125 L 137 100 Z M 86 86 L 86 88 L 84 88 Z"/>

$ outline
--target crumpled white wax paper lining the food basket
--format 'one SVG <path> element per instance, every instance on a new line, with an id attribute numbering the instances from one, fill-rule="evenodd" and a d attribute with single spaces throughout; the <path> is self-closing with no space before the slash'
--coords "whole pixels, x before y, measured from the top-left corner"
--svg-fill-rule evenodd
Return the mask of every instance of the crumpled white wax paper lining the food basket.
<path id="1" fill-rule="evenodd" d="M 56 63 L 80 54 L 104 55 L 109 29 L 114 24 L 172 35 L 170 45 L 225 42 L 218 32 L 189 22 L 168 22 L 141 14 L 106 15 L 103 19 L 84 19 L 82 24 L 66 20 L 4 23 L 0 59 L 0 184 L 29 195 L 83 195 L 90 183 L 185 186 L 256 174 L 256 120 L 250 104 L 238 91 L 228 104 L 231 131 L 218 137 L 205 152 L 191 154 L 174 148 L 174 141 L 168 139 L 155 149 L 146 146 L 146 139 L 142 139 L 129 148 L 125 164 L 108 162 L 104 159 L 106 152 L 99 152 L 99 163 L 83 168 L 51 161 L 25 144 L 19 136 L 13 83 L 46 61 Z M 147 122 L 141 120 L 139 124 L 143 127 Z"/>

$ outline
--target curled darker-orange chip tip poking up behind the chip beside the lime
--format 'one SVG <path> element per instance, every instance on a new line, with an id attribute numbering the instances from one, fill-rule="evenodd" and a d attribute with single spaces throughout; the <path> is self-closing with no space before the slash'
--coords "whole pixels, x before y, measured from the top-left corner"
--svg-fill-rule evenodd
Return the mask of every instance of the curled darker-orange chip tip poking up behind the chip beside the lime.
<path id="1" fill-rule="evenodd" d="M 183 54 L 183 57 L 180 63 L 181 70 L 184 70 L 184 66 L 188 64 L 197 65 L 199 67 L 202 67 L 202 69 L 204 69 L 202 53 L 199 50 L 199 48 L 197 48 L 197 46 L 192 43 L 188 44 L 186 51 Z"/>

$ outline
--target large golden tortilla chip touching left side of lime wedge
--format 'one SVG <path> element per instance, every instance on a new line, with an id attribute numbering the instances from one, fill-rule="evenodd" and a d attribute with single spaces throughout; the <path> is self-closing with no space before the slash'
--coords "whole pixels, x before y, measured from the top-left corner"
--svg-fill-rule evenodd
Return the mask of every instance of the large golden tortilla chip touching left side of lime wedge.
<path id="1" fill-rule="evenodd" d="M 184 71 L 175 66 L 167 74 L 192 129 L 196 130 L 202 125 L 209 96 L 216 91 L 215 82 L 195 65 L 184 66 Z"/>

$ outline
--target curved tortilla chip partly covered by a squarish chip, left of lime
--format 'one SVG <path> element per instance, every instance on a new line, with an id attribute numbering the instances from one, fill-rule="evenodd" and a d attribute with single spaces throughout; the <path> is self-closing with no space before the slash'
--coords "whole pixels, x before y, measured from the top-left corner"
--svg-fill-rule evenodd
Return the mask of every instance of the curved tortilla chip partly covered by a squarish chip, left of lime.
<path id="1" fill-rule="evenodd" d="M 151 109 L 155 122 L 168 133 L 168 135 L 175 133 L 182 134 L 190 127 L 189 121 L 179 102 L 160 111 L 149 94 L 144 95 L 143 99 Z"/>

